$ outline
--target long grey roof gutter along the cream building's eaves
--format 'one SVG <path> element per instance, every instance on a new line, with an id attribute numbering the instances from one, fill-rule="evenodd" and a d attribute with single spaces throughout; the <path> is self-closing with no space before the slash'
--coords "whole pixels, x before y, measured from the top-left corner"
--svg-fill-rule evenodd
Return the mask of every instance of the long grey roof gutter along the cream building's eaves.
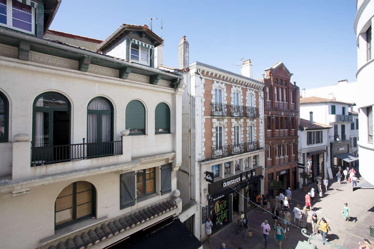
<path id="1" fill-rule="evenodd" d="M 29 36 L 29 35 L 15 33 L 15 32 L 12 32 L 12 31 L 8 31 L 6 29 L 1 29 L 0 28 L 0 35 L 8 35 L 10 37 L 15 37 L 15 38 L 18 38 L 18 39 L 21 39 L 21 40 L 26 40 L 26 41 L 29 41 L 29 42 L 39 43 L 39 44 L 42 44 L 44 46 L 55 47 L 56 49 L 66 50 L 66 51 L 70 51 L 70 52 L 78 53 L 78 54 L 83 54 L 85 56 L 92 57 L 92 58 L 97 58 L 97 59 L 101 59 L 101 60 L 107 60 L 108 62 L 121 64 L 123 66 L 129 66 L 129 67 L 132 67 L 132 68 L 138 68 L 138 69 L 148 71 L 148 72 L 154 72 L 154 74 L 161 74 L 161 75 L 165 75 L 165 76 L 168 76 L 168 77 L 183 79 L 183 77 L 180 76 L 180 75 L 171 74 L 171 73 L 161 71 L 161 70 L 156 69 L 156 68 L 150 68 L 148 66 L 143 66 L 143 65 L 139 65 L 139 64 L 135 64 L 135 63 L 131 63 L 131 62 L 126 62 L 126 61 L 123 61 L 123 60 L 108 57 L 106 55 L 101 55 L 101 54 L 93 52 L 93 51 L 78 49 L 78 48 L 67 46 L 67 45 L 64 45 L 64 44 L 55 43 L 53 41 L 48 41 L 48 40 L 45 40 L 45 39 L 41 39 L 41 38 Z"/>

